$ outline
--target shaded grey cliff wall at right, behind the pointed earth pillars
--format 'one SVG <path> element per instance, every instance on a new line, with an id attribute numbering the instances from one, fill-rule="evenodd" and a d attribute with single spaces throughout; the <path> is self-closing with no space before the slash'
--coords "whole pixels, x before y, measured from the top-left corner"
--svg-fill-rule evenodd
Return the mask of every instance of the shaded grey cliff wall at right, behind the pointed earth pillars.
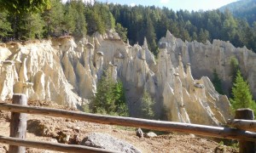
<path id="1" fill-rule="evenodd" d="M 213 40 L 207 42 L 183 42 L 181 39 L 173 37 L 167 31 L 166 37 L 160 40 L 161 44 L 166 44 L 168 53 L 172 54 L 172 63 L 178 65 L 177 56 L 182 54 L 183 63 L 191 63 L 192 75 L 195 78 L 207 76 L 212 78 L 213 70 L 216 69 L 218 76 L 223 80 L 223 88 L 229 94 L 231 88 L 230 59 L 236 57 L 239 61 L 241 73 L 247 78 L 250 84 L 253 98 L 256 99 L 256 54 L 244 48 L 235 48 L 230 42 Z"/>

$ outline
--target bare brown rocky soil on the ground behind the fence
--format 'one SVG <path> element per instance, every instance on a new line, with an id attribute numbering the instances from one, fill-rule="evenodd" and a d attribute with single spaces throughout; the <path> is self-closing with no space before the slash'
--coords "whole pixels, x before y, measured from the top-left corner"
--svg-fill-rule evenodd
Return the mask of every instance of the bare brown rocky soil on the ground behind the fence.
<path id="1" fill-rule="evenodd" d="M 10 101 L 6 101 L 10 102 Z M 29 105 L 70 110 L 53 102 L 29 100 Z M 9 136 L 10 113 L 0 111 L 0 135 Z M 67 118 L 28 115 L 26 139 L 80 144 L 90 133 L 108 133 L 125 140 L 142 152 L 237 152 L 236 149 L 220 145 L 209 139 L 177 133 L 162 134 L 154 138 L 139 138 L 133 127 L 109 126 L 90 122 L 79 122 Z M 7 152 L 8 144 L 0 144 L 0 152 Z M 55 152 L 27 148 L 26 152 Z"/>

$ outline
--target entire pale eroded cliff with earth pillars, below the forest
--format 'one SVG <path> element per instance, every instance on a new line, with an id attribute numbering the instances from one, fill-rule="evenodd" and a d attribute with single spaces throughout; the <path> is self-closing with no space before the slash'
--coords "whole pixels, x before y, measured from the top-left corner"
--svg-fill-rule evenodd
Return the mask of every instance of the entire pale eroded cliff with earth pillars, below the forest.
<path id="1" fill-rule="evenodd" d="M 131 46 L 113 31 L 78 42 L 73 37 L 59 37 L 0 46 L 2 100 L 24 93 L 30 99 L 79 108 L 90 102 L 102 71 L 108 69 L 113 79 L 125 86 L 131 116 L 137 116 L 143 90 L 147 90 L 157 102 L 159 116 L 165 108 L 170 121 L 219 126 L 231 117 L 230 102 L 202 76 L 211 77 L 216 69 L 230 84 L 229 59 L 235 55 L 255 88 L 255 54 L 247 48 L 234 48 L 218 40 L 212 44 L 183 42 L 169 31 L 160 40 L 157 59 L 148 50 L 146 39 L 143 46 Z"/>

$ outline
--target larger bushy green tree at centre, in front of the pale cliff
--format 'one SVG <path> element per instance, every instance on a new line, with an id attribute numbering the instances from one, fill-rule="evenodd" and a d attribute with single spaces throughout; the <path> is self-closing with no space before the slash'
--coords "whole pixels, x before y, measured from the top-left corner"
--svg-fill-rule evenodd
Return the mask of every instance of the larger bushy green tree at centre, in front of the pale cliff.
<path id="1" fill-rule="evenodd" d="M 128 116 L 122 82 L 115 83 L 105 71 L 97 84 L 96 97 L 91 101 L 90 108 L 93 113 Z"/>

